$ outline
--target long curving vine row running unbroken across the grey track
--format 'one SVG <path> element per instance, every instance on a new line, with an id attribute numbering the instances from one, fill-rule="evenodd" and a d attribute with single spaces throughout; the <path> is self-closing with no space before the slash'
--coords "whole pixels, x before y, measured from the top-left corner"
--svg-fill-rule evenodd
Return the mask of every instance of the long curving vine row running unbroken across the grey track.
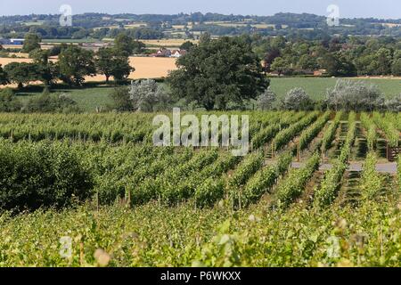
<path id="1" fill-rule="evenodd" d="M 341 148 L 340 156 L 333 164 L 332 168 L 326 172 L 323 181 L 315 190 L 315 206 L 319 208 L 331 204 L 337 195 L 340 187 L 340 181 L 348 167 L 348 157 L 351 147 L 355 142 L 356 135 L 356 114 L 351 112 L 348 117 L 348 134 L 344 145 Z"/>

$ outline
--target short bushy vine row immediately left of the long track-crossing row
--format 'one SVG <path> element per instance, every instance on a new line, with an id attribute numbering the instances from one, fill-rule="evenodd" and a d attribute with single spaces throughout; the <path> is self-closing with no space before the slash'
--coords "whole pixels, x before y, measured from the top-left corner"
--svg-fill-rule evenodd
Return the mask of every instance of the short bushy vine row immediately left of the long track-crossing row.
<path id="1" fill-rule="evenodd" d="M 287 177 L 279 183 L 276 198 L 280 208 L 287 208 L 304 191 L 307 182 L 319 169 L 320 156 L 315 153 L 307 160 L 305 167 L 292 169 Z"/>

